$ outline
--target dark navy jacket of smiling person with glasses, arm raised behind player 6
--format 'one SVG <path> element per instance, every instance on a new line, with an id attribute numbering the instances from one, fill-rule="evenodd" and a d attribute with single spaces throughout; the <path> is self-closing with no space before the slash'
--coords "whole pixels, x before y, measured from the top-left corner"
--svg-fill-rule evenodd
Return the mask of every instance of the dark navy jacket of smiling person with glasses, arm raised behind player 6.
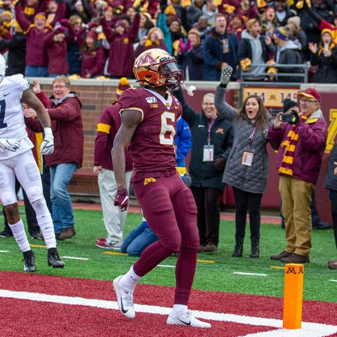
<path id="1" fill-rule="evenodd" d="M 211 126 L 211 145 L 214 146 L 214 161 L 203 161 L 204 145 L 207 145 L 209 119 L 204 112 L 198 114 L 187 105 L 181 88 L 174 91 L 174 95 L 183 105 L 183 119 L 190 126 L 192 136 L 191 159 L 189 173 L 194 187 L 214 187 L 223 190 L 225 184 L 222 182 L 224 169 L 218 171 L 214 161 L 223 157 L 227 161 L 233 145 L 232 124 L 224 117 L 218 116 Z"/>

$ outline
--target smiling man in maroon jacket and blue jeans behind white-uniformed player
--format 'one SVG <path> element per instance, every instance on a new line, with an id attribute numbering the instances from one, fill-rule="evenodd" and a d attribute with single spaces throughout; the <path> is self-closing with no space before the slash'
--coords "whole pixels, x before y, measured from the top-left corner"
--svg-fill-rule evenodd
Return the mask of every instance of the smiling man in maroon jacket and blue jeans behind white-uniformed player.
<path id="1" fill-rule="evenodd" d="M 83 161 L 84 134 L 81 117 L 82 103 L 77 93 L 70 91 L 70 80 L 64 75 L 53 80 L 53 97 L 41 91 L 39 81 L 34 81 L 34 93 L 47 107 L 51 128 L 55 135 L 55 151 L 46 157 L 51 172 L 51 203 L 56 239 L 73 237 L 74 213 L 67 186 L 74 171 Z M 26 121 L 36 123 L 36 119 Z"/>

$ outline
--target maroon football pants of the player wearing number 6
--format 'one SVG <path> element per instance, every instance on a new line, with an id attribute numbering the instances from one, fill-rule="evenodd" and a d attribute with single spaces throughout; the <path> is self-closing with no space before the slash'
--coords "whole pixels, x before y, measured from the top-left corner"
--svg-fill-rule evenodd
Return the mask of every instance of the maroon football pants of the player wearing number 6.
<path id="1" fill-rule="evenodd" d="M 152 178 L 149 176 L 149 178 Z M 187 305 L 197 265 L 197 206 L 178 173 L 133 183 L 138 204 L 159 241 L 148 246 L 133 266 L 144 276 L 162 260 L 178 253 L 175 304 Z"/>

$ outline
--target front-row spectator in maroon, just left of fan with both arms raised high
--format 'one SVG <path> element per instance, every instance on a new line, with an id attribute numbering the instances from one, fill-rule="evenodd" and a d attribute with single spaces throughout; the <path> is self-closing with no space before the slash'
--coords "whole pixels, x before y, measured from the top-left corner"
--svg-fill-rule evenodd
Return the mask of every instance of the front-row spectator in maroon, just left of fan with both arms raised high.
<path id="1" fill-rule="evenodd" d="M 98 44 L 98 34 L 89 30 L 85 38 L 77 38 L 81 51 L 81 77 L 92 79 L 103 75 L 105 65 L 105 53 Z"/>

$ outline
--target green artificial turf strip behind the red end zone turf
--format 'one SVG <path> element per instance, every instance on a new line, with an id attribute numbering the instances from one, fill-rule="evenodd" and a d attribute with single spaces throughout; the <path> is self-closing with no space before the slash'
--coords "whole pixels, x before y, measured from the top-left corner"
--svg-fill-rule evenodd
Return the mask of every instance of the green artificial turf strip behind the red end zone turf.
<path id="1" fill-rule="evenodd" d="M 22 218 L 25 216 L 20 207 Z M 74 210 L 77 234 L 72 239 L 58 242 L 60 256 L 66 265 L 63 270 L 53 270 L 46 263 L 44 242 L 29 239 L 37 258 L 37 272 L 45 275 L 112 280 L 125 273 L 137 258 L 119 251 L 100 249 L 95 237 L 104 237 L 105 227 L 101 211 Z M 2 223 L 3 218 L 0 218 Z M 124 236 L 141 223 L 138 213 L 128 213 Z M 1 225 L 2 230 L 2 225 Z M 244 256 L 232 258 L 234 249 L 234 222 L 222 220 L 220 241 L 216 253 L 199 253 L 194 289 L 249 293 L 282 297 L 284 292 L 284 263 L 270 260 L 270 255 L 284 250 L 284 230 L 279 225 L 263 224 L 260 230 L 260 258 L 249 258 L 249 225 L 246 227 Z M 22 253 L 13 237 L 0 238 L 0 270 L 22 272 Z M 329 270 L 327 261 L 337 258 L 333 230 L 312 232 L 310 263 L 305 264 L 303 298 L 337 303 L 337 270 Z M 140 282 L 163 286 L 175 285 L 174 265 L 171 256 Z M 171 266 L 171 267 L 170 267 Z"/>

